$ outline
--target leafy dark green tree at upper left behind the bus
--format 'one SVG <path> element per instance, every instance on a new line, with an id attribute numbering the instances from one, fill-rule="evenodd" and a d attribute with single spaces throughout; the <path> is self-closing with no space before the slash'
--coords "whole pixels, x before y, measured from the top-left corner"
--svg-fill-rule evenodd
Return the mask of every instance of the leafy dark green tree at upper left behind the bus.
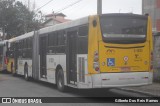
<path id="1" fill-rule="evenodd" d="M 20 1 L 0 0 L 0 28 L 7 33 L 7 39 L 37 30 L 40 22 L 34 11 Z"/>

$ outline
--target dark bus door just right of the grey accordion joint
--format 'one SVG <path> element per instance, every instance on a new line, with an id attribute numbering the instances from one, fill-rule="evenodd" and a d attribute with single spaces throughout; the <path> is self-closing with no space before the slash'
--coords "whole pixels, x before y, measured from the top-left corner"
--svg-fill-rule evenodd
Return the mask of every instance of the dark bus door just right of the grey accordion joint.
<path id="1" fill-rule="evenodd" d="M 47 36 L 40 37 L 40 76 L 46 78 Z"/>

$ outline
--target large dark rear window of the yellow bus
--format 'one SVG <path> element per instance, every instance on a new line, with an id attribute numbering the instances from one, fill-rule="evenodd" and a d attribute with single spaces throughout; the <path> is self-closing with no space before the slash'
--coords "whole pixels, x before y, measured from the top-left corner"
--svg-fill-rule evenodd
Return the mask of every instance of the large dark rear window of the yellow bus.
<path id="1" fill-rule="evenodd" d="M 147 16 L 104 15 L 100 17 L 103 41 L 106 43 L 144 43 Z"/>

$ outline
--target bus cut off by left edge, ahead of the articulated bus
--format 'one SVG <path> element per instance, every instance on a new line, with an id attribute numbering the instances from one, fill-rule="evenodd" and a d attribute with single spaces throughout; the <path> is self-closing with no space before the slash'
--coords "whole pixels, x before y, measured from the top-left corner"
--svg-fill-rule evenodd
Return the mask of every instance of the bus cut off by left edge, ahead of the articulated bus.
<path id="1" fill-rule="evenodd" d="M 0 41 L 0 72 L 6 71 L 7 69 L 7 58 L 6 58 L 6 51 L 7 45 L 6 40 Z"/>

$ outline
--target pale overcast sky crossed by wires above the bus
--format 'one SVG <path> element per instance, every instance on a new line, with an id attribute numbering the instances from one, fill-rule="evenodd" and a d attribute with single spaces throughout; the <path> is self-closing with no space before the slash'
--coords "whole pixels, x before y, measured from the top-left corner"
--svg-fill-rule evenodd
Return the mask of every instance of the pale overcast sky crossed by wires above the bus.
<path id="1" fill-rule="evenodd" d="M 19 0 L 28 5 L 28 0 Z M 46 4 L 50 0 L 30 0 L 30 7 L 33 7 L 35 1 L 35 10 Z M 52 0 L 48 5 L 40 10 L 43 14 L 57 12 L 64 7 L 75 3 L 78 0 Z M 142 0 L 102 0 L 102 13 L 135 13 L 142 14 Z M 81 0 L 77 4 L 70 6 L 63 11 L 67 19 L 77 19 L 97 13 L 97 0 Z"/>

